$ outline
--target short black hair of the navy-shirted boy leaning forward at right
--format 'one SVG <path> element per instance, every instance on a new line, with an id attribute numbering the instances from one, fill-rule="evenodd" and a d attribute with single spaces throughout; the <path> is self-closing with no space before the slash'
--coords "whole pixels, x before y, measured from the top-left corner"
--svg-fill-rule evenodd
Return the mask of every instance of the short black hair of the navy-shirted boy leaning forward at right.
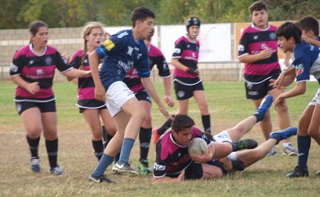
<path id="1" fill-rule="evenodd" d="M 296 24 L 292 22 L 286 22 L 281 24 L 277 30 L 275 31 L 277 37 L 284 36 L 287 40 L 290 37 L 293 37 L 295 43 L 299 43 L 301 41 L 302 31 Z"/>

